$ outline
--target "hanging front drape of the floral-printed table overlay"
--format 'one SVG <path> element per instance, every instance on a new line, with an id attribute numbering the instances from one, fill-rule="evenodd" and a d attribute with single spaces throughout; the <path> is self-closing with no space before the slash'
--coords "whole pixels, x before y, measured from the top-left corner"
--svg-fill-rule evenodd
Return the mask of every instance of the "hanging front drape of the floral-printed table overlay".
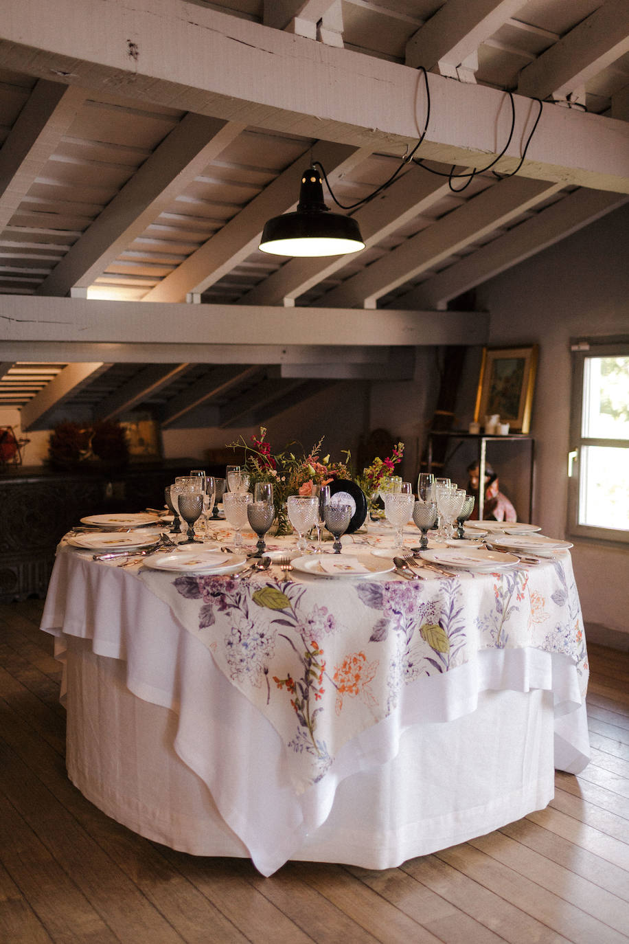
<path id="1" fill-rule="evenodd" d="M 570 557 L 472 580 L 284 582 L 148 568 L 139 576 L 273 724 L 297 792 L 321 780 L 343 744 L 389 716 L 405 685 L 480 649 L 563 653 L 585 697 Z"/>

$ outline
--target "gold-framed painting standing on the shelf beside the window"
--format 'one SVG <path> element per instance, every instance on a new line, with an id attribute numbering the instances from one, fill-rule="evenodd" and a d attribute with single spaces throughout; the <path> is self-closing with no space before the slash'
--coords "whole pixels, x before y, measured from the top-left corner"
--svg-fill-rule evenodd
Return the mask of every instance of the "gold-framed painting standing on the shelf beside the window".
<path id="1" fill-rule="evenodd" d="M 538 345 L 483 348 L 475 422 L 482 425 L 485 416 L 498 413 L 510 431 L 529 431 L 538 349 Z"/>

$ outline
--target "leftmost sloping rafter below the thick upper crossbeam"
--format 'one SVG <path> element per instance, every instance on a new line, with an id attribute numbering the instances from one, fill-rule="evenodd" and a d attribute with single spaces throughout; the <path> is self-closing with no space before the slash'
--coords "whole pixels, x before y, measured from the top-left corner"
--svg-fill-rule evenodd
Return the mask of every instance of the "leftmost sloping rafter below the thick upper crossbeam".
<path id="1" fill-rule="evenodd" d="M 30 190 L 74 122 L 87 93 L 40 79 L 0 148 L 0 230 Z"/>

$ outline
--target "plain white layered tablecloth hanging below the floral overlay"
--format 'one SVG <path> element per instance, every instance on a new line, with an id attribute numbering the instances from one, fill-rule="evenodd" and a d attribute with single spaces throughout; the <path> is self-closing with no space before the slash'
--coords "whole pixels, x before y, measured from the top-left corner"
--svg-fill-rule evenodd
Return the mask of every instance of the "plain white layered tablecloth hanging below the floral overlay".
<path id="1" fill-rule="evenodd" d="M 548 580 L 542 569 L 530 580 Z M 330 584 L 308 593 L 323 606 Z M 587 663 L 561 633 L 408 678 L 305 784 L 274 717 L 137 572 L 61 550 L 41 627 L 67 659 L 68 770 L 82 792 L 141 834 L 248 855 L 266 875 L 289 858 L 398 865 L 545 806 L 554 767 L 588 763 Z"/>

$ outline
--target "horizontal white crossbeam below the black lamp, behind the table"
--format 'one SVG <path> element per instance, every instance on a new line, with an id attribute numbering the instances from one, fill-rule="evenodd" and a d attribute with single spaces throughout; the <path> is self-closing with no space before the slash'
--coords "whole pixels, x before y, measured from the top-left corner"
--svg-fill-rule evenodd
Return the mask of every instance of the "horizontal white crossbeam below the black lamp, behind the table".
<path id="1" fill-rule="evenodd" d="M 174 328 L 176 325 L 176 335 Z M 248 305 L 167 305 L 161 302 L 89 301 L 85 298 L 35 298 L 5 295 L 0 316 L 3 356 L 40 343 L 50 351 L 90 344 L 107 351 L 108 362 L 124 357 L 127 345 L 155 350 L 160 362 L 204 360 L 213 346 L 312 345 L 372 346 L 482 345 L 488 339 L 486 312 L 366 312 L 356 309 L 283 307 L 252 310 Z M 150 341 L 147 339 L 150 338 Z M 229 338 L 229 344 L 225 344 Z M 25 342 L 14 346 L 10 342 Z M 66 353 L 69 353 L 69 350 Z M 185 356 L 183 352 L 185 351 Z M 34 356 L 34 355 L 33 355 Z M 15 360 L 33 360 L 33 356 Z M 320 357 L 320 355 L 318 355 Z M 61 360 L 67 358 L 60 354 Z"/>

